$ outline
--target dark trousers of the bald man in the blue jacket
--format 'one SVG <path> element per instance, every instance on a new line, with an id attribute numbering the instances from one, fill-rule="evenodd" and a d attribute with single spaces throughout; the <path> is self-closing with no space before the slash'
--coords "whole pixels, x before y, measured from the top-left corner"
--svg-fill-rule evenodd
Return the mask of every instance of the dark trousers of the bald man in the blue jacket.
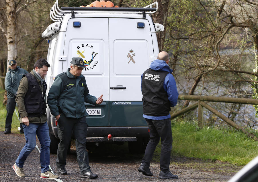
<path id="1" fill-rule="evenodd" d="M 161 153 L 160 153 L 160 170 L 164 173 L 169 172 L 170 153 L 172 149 L 172 130 L 170 118 L 165 120 L 146 119 L 150 130 L 150 140 L 145 149 L 142 163 L 146 167 L 150 167 L 150 161 L 156 146 L 161 138 Z"/>

